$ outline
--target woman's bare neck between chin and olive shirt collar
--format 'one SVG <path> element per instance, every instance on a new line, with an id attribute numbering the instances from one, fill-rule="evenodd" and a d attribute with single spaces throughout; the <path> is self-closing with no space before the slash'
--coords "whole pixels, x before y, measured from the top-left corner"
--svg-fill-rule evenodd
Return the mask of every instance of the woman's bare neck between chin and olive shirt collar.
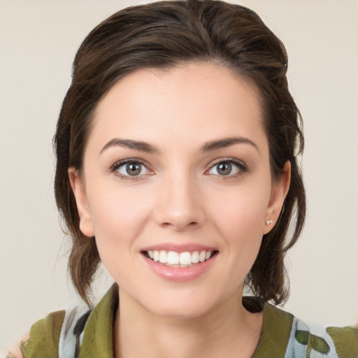
<path id="1" fill-rule="evenodd" d="M 245 310 L 241 294 L 234 294 L 200 317 L 169 318 L 148 312 L 120 292 L 115 357 L 252 357 L 263 315 Z"/>

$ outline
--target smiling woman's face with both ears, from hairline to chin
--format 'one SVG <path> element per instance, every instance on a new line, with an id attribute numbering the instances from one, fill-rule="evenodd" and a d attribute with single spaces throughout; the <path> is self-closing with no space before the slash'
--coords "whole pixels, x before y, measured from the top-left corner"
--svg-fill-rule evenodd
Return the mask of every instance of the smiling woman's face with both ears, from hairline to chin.
<path id="1" fill-rule="evenodd" d="M 289 182 L 287 166 L 271 180 L 262 121 L 255 87 L 206 62 L 141 69 L 99 103 L 69 173 L 120 299 L 166 317 L 237 304 Z"/>

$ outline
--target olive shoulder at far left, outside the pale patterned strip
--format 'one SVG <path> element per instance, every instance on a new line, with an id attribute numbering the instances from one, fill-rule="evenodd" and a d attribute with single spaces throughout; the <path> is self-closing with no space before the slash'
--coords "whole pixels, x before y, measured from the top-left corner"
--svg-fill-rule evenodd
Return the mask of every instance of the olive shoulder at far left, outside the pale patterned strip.
<path id="1" fill-rule="evenodd" d="M 8 353 L 11 357 L 36 357 L 50 358 L 58 357 L 59 336 L 65 311 L 60 310 L 50 313 L 43 320 L 32 325 L 29 334 L 22 338 L 20 344 Z"/>

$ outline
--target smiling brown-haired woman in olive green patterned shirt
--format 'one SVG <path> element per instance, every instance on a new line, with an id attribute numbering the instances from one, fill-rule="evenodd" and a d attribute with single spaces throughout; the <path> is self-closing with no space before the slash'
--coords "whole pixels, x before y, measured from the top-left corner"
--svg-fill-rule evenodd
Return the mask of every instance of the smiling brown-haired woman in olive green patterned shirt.
<path id="1" fill-rule="evenodd" d="M 34 324 L 24 357 L 358 355 L 356 329 L 317 333 L 267 303 L 287 299 L 306 212 L 286 71 L 259 17 L 218 1 L 127 8 L 87 36 L 55 194 L 80 296 L 92 308 L 99 262 L 116 284 L 90 312 Z"/>

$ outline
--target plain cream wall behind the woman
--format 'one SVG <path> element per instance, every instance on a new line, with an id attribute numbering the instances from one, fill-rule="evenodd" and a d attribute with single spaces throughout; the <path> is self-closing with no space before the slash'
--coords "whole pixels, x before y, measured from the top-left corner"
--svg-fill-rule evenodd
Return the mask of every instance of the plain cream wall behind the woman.
<path id="1" fill-rule="evenodd" d="M 52 135 L 87 33 L 134 0 L 0 0 L 0 350 L 76 300 L 53 195 Z M 147 1 L 150 2 L 150 1 Z M 308 220 L 287 255 L 294 315 L 358 322 L 358 2 L 231 1 L 285 43 L 303 115 Z M 102 275 L 97 297 L 110 279 Z"/>

